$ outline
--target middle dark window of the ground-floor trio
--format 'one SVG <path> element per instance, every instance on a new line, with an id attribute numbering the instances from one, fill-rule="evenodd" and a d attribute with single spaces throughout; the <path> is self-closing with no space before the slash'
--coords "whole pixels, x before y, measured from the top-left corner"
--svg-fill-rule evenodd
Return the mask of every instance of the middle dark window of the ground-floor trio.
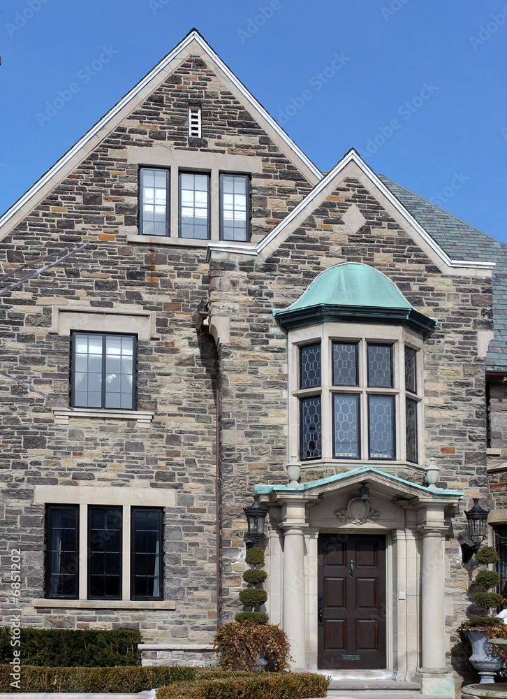
<path id="1" fill-rule="evenodd" d="M 122 507 L 88 508 L 88 598 L 122 599 Z"/>

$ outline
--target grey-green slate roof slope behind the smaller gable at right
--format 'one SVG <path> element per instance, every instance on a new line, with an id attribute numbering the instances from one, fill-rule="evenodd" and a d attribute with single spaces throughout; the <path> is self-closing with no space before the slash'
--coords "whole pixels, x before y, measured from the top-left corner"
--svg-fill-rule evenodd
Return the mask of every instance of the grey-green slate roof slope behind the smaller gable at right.
<path id="1" fill-rule="evenodd" d="M 486 368 L 506 371 L 507 245 L 384 175 L 379 175 L 379 179 L 450 257 L 496 262 L 492 278 L 494 338 L 487 352 Z"/>

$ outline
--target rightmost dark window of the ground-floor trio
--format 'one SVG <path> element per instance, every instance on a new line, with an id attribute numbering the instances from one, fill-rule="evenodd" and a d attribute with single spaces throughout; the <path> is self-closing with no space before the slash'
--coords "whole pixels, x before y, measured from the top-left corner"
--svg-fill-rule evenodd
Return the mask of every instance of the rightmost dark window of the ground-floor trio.
<path id="1" fill-rule="evenodd" d="M 131 596 L 163 598 L 163 509 L 131 510 Z"/>

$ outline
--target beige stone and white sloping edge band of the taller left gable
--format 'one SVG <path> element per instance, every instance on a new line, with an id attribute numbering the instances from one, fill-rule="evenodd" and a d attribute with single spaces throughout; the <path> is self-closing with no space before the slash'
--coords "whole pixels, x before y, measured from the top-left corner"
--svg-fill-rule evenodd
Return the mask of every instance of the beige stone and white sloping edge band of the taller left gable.
<path id="1" fill-rule="evenodd" d="M 294 143 L 292 138 L 286 134 L 284 129 L 275 122 L 273 117 L 267 113 L 265 108 L 234 75 L 233 71 L 231 71 L 219 56 L 216 55 L 197 29 L 192 29 L 189 34 L 185 36 L 183 41 L 173 48 L 161 62 L 156 64 L 152 71 L 145 75 L 130 92 L 122 97 L 101 120 L 94 124 L 94 126 L 78 140 L 78 143 L 75 143 L 75 145 L 73 145 L 73 147 L 71 147 L 71 149 L 28 190 L 28 192 L 23 194 L 23 196 L 0 217 L 0 239 L 6 236 L 10 230 L 12 230 L 13 226 L 17 224 L 20 217 L 26 215 L 31 208 L 34 208 L 53 187 L 58 185 L 59 182 L 66 177 L 73 167 L 87 157 L 87 155 L 115 129 L 117 124 L 119 124 L 124 117 L 131 113 L 140 102 L 146 99 L 154 89 L 159 87 L 159 85 L 166 80 L 170 73 L 177 69 L 179 64 L 182 64 L 191 55 L 205 57 L 207 62 L 221 75 L 222 79 L 228 83 L 231 92 L 235 93 L 238 99 L 242 99 L 242 101 L 247 103 L 249 110 L 255 115 L 267 134 L 277 141 L 281 150 L 283 150 L 286 156 L 300 168 L 312 184 L 321 180 L 321 171 L 318 170 L 309 157 L 302 152 L 300 147 Z M 18 213 L 20 213 L 21 216 L 16 216 Z"/>

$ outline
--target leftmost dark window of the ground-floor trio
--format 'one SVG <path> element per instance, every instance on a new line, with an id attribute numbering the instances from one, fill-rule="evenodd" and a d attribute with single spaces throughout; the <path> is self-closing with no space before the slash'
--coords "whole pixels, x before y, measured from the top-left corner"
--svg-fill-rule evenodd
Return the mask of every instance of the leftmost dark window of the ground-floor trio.
<path id="1" fill-rule="evenodd" d="M 46 506 L 46 593 L 79 597 L 79 507 Z"/>

